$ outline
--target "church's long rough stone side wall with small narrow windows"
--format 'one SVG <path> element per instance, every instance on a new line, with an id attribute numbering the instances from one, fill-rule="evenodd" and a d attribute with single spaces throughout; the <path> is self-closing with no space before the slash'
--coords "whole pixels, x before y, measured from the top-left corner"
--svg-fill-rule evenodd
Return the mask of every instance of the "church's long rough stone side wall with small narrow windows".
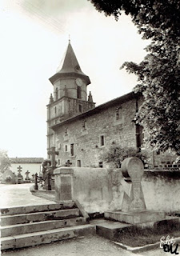
<path id="1" fill-rule="evenodd" d="M 57 161 L 59 159 L 58 164 L 62 165 L 70 159 L 72 166 L 78 166 L 80 161 L 81 166 L 98 167 L 99 162 L 102 162 L 102 154 L 112 144 L 135 147 L 135 125 L 132 122 L 136 111 L 135 99 L 119 106 L 121 110 L 118 120 L 116 120 L 118 107 L 116 105 L 101 110 L 97 114 L 86 115 L 85 118 L 59 126 L 55 131 L 55 146 L 59 150 L 59 156 L 56 158 Z M 101 146 L 101 136 L 104 136 L 103 146 Z M 70 155 L 71 144 L 74 145 L 74 156 Z"/>

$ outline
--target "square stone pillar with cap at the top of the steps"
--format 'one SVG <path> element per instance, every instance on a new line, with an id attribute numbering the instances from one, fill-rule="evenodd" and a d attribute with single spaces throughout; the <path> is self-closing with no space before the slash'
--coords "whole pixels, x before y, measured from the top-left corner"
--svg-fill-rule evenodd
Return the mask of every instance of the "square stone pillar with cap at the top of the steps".
<path id="1" fill-rule="evenodd" d="M 56 202 L 71 202 L 73 200 L 73 174 L 70 167 L 60 167 L 54 170 L 54 186 Z"/>

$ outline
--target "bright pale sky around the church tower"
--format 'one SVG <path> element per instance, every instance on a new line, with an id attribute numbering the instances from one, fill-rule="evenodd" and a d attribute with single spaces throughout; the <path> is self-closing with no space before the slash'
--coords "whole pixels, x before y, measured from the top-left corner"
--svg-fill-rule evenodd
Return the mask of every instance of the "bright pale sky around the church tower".
<path id="1" fill-rule="evenodd" d="M 0 149 L 9 157 L 46 158 L 46 105 L 70 37 L 96 106 L 129 93 L 149 42 L 131 18 L 118 22 L 87 0 L 2 0 L 0 9 Z"/>

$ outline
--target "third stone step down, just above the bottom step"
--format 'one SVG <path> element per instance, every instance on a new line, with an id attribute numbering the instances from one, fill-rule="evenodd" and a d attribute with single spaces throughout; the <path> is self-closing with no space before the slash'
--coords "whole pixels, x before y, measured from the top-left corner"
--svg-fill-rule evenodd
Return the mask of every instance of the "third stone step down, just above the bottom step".
<path id="1" fill-rule="evenodd" d="M 45 221 L 45 222 L 34 222 L 34 223 L 26 223 L 26 224 L 17 224 L 10 226 L 2 226 L 1 227 L 1 236 L 8 237 L 16 234 L 26 234 L 33 233 L 44 230 L 54 230 L 65 226 L 77 226 L 86 224 L 86 218 L 78 217 L 78 218 L 67 218 L 63 220 L 53 220 L 53 221 Z"/>

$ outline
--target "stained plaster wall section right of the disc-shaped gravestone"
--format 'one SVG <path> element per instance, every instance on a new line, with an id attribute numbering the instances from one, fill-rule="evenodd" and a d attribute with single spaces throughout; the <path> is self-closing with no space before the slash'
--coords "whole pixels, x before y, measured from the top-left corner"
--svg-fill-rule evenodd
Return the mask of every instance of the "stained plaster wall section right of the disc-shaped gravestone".
<path id="1" fill-rule="evenodd" d="M 180 171 L 146 170 L 142 190 L 148 210 L 180 213 Z"/>

